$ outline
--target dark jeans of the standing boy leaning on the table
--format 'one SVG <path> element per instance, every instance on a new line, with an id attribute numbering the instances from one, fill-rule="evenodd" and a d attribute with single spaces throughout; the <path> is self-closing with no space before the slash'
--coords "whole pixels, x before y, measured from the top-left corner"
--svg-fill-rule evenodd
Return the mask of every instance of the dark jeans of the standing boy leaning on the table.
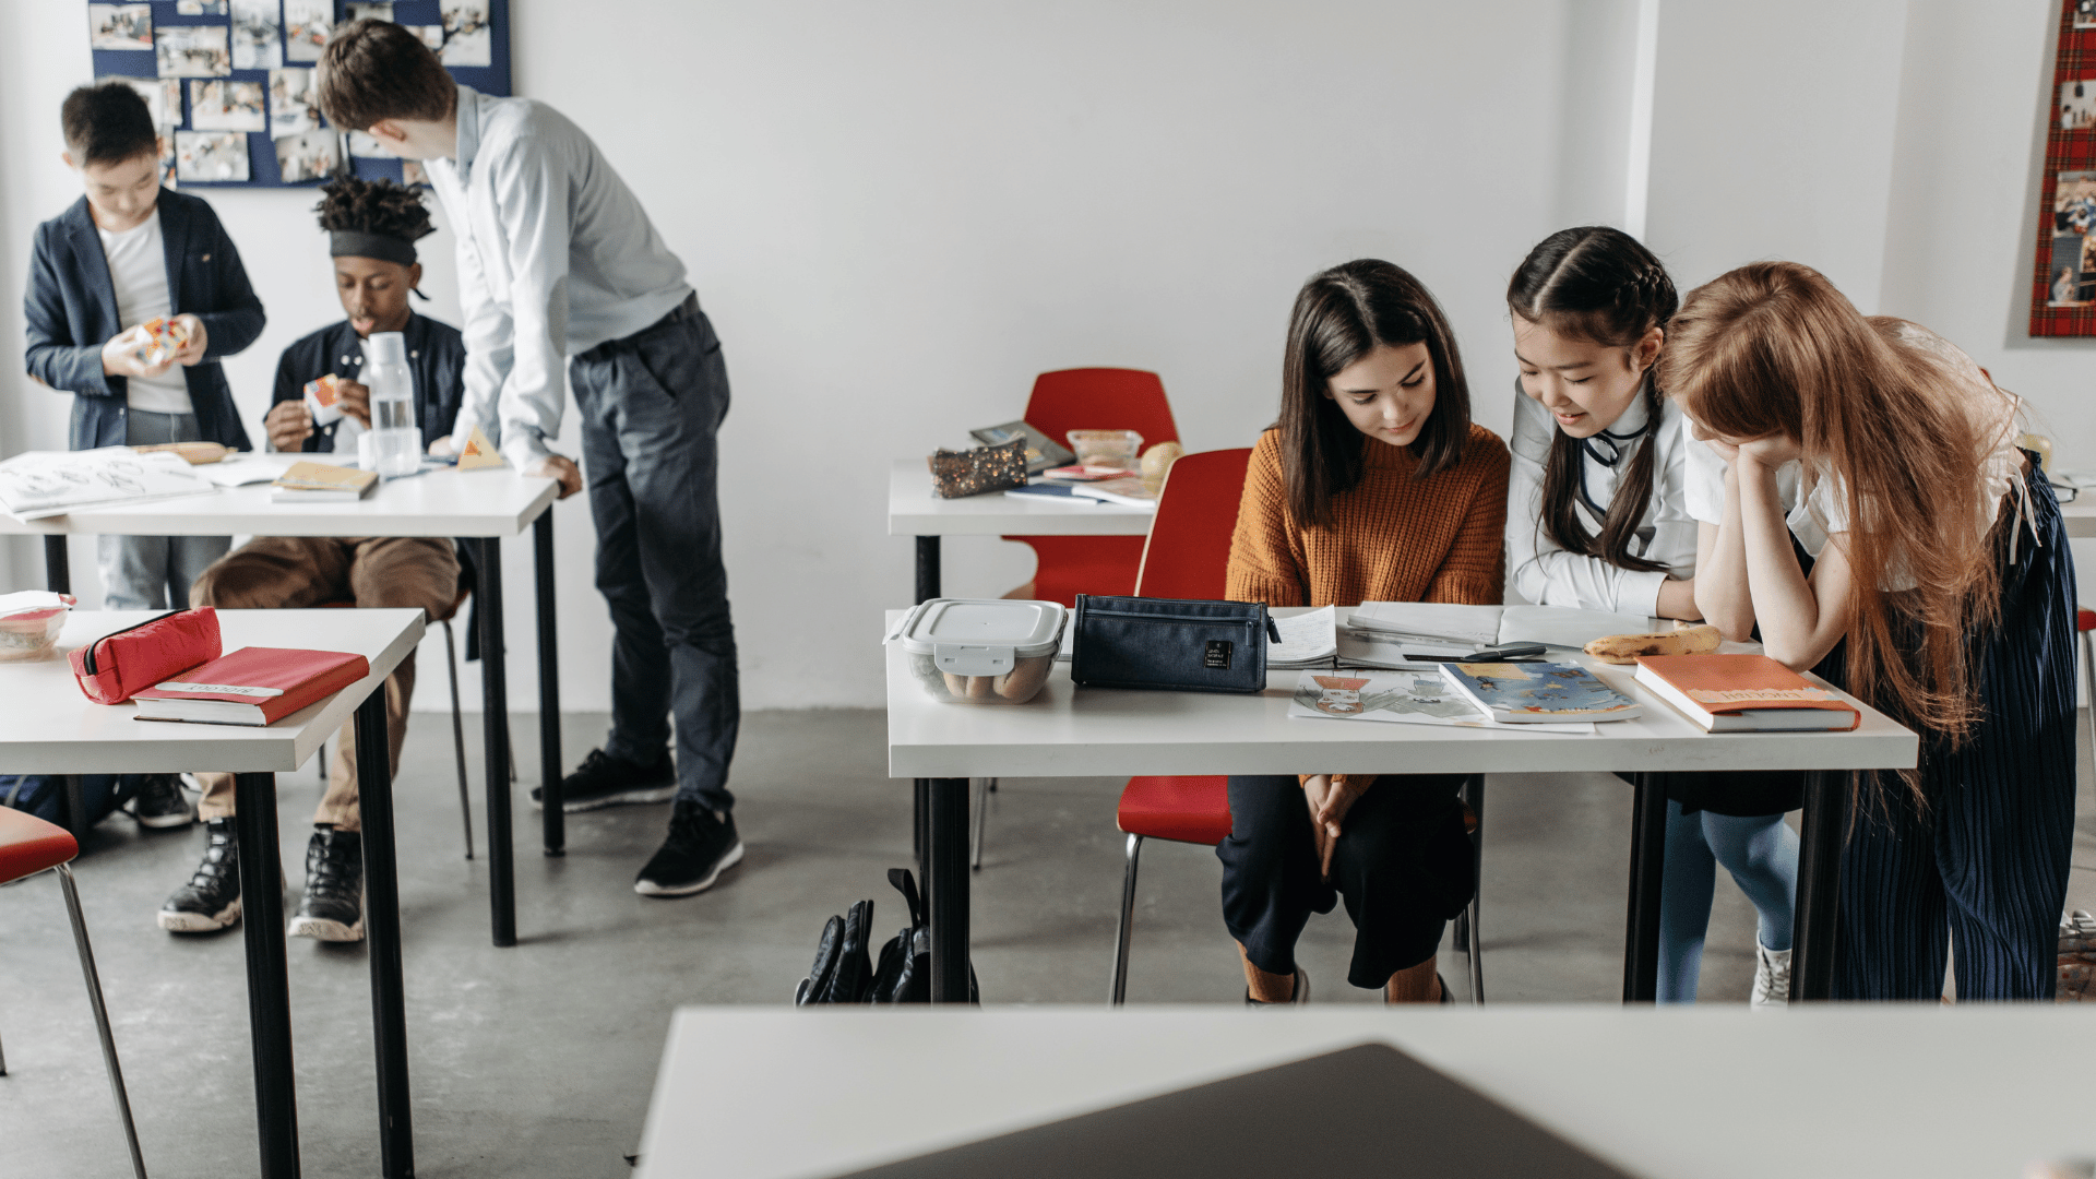
<path id="1" fill-rule="evenodd" d="M 721 566 L 727 365 L 694 296 L 656 325 L 568 361 L 597 522 L 597 590 L 612 606 L 606 753 L 654 762 L 677 720 L 677 797 L 736 806 L 727 764 L 742 701 Z"/>

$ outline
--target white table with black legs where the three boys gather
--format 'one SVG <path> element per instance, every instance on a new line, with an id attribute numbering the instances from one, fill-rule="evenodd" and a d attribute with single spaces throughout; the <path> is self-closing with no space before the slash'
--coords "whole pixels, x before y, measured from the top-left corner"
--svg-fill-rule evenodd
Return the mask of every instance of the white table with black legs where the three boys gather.
<path id="1" fill-rule="evenodd" d="M 293 462 L 337 462 L 335 455 L 243 453 L 241 466 L 287 468 Z M 476 548 L 480 583 L 480 684 L 488 774 L 488 906 L 497 946 L 514 946 L 516 866 L 509 833 L 509 676 L 503 650 L 501 539 L 532 529 L 539 579 L 539 715 L 560 715 L 560 655 L 553 619 L 553 493 L 551 478 L 526 478 L 511 468 L 434 468 L 409 478 L 381 483 L 354 503 L 270 503 L 266 483 L 226 487 L 212 495 L 155 499 L 149 503 L 82 508 L 44 520 L 15 520 L 0 514 L 0 535 L 42 535 L 44 577 L 54 592 L 71 592 L 67 571 L 69 535 L 132 537 L 463 537 Z M 182 602 L 187 604 L 187 602 Z M 566 843 L 560 808 L 560 726 L 539 726 L 541 789 L 545 791 L 545 854 L 560 856 Z"/>

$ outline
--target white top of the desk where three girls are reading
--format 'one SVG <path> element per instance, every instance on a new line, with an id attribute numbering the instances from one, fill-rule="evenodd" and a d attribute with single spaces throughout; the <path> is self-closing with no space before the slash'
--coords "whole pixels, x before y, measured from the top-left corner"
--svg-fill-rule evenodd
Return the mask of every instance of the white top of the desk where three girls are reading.
<path id="1" fill-rule="evenodd" d="M 889 627 L 901 615 L 891 610 Z M 1308 720 L 1287 715 L 1297 669 L 1270 671 L 1258 696 L 1077 692 L 1067 663 L 1025 705 L 958 705 L 924 694 L 901 644 L 889 644 L 889 776 L 1882 770 L 1914 766 L 1918 755 L 1909 730 L 1861 705 L 1863 724 L 1855 732 L 1704 732 L 1633 684 L 1635 667 L 1576 659 L 1645 705 L 1643 715 L 1597 724 L 1591 736 Z"/>

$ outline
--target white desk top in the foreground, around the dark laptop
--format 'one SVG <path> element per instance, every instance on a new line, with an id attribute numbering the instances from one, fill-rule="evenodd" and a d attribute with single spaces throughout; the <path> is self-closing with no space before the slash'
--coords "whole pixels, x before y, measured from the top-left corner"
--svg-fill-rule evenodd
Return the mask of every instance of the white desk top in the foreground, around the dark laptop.
<path id="1" fill-rule="evenodd" d="M 840 1175 L 1371 1041 L 1656 1179 L 2096 1154 L 2096 1011 L 2054 1005 L 681 1007 L 635 1175 Z"/>

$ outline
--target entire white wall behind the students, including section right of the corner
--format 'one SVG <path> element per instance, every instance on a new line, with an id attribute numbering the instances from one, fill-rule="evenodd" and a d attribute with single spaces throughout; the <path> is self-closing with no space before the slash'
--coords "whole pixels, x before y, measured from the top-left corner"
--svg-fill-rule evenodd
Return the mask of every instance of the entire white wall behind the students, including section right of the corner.
<path id="1" fill-rule="evenodd" d="M 1274 413 L 1287 306 L 1318 266 L 1415 269 L 1467 348 L 1478 417 L 1503 430 L 1505 275 L 1635 195 L 1637 8 L 635 0 L 606 19 L 514 0 L 518 90 L 597 136 L 727 348 L 744 701 L 878 703 L 868 636 L 910 594 L 910 541 L 882 522 L 891 457 L 1017 415 L 1033 373 L 1069 365 L 1155 369 L 1188 447 L 1243 445 Z M 1819 266 L 1865 310 L 1966 346 L 2031 399 L 2062 462 L 2096 468 L 2096 344 L 2023 336 L 2050 31 L 2052 0 L 1662 0 L 1650 241 L 1683 290 L 1754 258 Z M 69 0 L 0 4 L 0 334 L 19 340 L 29 231 L 78 193 L 52 157 L 88 55 Z M 310 193 L 210 199 L 270 308 L 228 363 L 254 422 L 277 352 L 337 308 Z M 438 317 L 455 317 L 446 241 L 425 248 Z M 0 451 L 63 445 L 63 396 L 6 390 Z M 602 709 L 589 518 L 558 512 L 564 701 Z M 509 554 L 518 619 L 526 548 Z M 0 558 L 10 583 L 40 581 L 27 545 Z M 947 541 L 954 594 L 1002 594 L 1029 566 L 1017 545 Z M 532 644 L 514 634 L 528 709 Z"/>

